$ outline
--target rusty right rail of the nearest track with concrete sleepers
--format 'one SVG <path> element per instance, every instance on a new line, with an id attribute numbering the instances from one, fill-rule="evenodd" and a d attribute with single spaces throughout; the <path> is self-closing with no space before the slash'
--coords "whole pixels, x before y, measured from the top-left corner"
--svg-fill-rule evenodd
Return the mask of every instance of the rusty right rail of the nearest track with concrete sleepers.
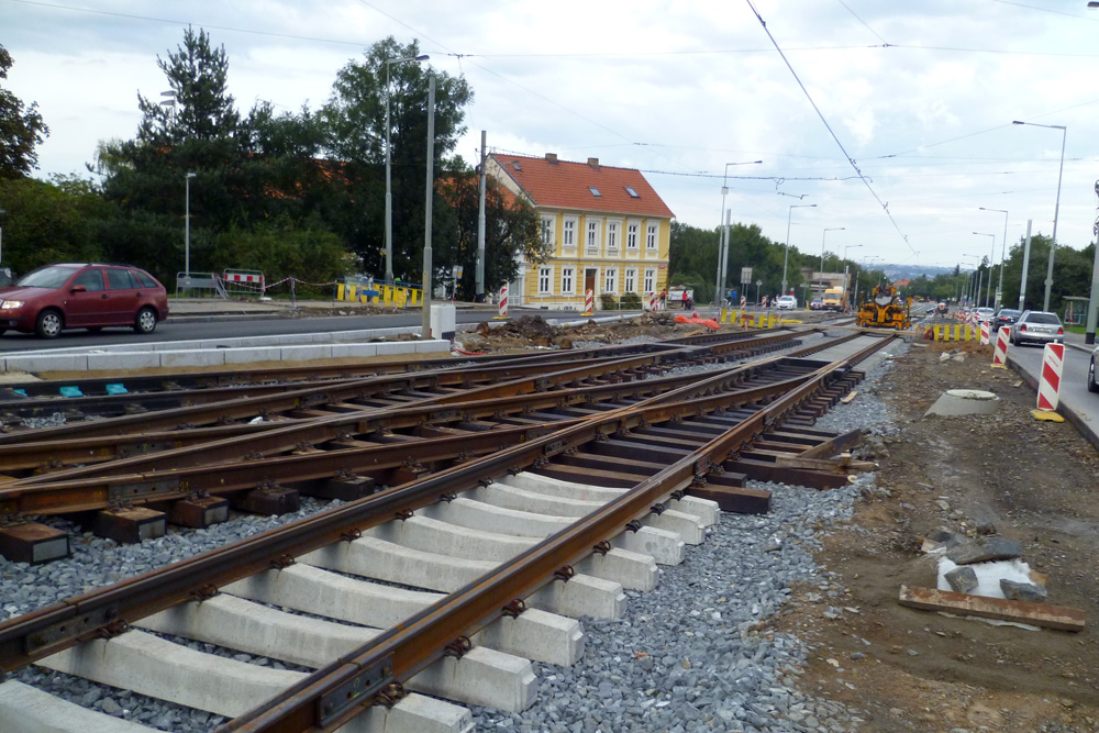
<path id="1" fill-rule="evenodd" d="M 469 636 L 500 618 L 509 607 L 513 608 L 517 599 L 523 599 L 553 581 L 559 570 L 565 570 L 567 577 L 568 566 L 590 555 L 607 537 L 625 531 L 631 521 L 652 511 L 671 487 L 695 480 L 704 481 L 713 466 L 720 466 L 754 435 L 778 422 L 819 389 L 830 375 L 850 368 L 852 360 L 882 345 L 872 344 L 859 355 L 822 367 L 812 380 L 763 408 L 693 454 L 639 482 L 634 489 L 570 527 L 546 537 L 399 626 L 384 632 L 369 644 L 309 675 L 282 695 L 222 725 L 218 733 L 336 730 L 363 712 L 379 692 L 392 689 L 390 686 L 402 685 L 440 658 L 447 645 L 459 636 Z M 581 429 L 577 426 L 551 436 L 555 445 L 546 446 L 543 456 L 550 458 L 564 452 L 563 443 L 569 442 L 566 434 Z"/>

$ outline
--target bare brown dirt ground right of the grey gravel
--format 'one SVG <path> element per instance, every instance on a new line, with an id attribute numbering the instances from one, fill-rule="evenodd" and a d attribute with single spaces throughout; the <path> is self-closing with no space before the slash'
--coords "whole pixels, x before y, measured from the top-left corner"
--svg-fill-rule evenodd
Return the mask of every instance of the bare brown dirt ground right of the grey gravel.
<path id="1" fill-rule="evenodd" d="M 1013 371 L 972 351 L 941 360 L 952 347 L 913 347 L 877 385 L 901 432 L 863 451 L 890 496 L 862 500 L 853 525 L 826 537 L 819 562 L 837 577 L 795 589 L 769 626 L 819 645 L 800 687 L 864 711 L 863 730 L 1099 731 L 1099 457 L 1069 423 L 1035 421 L 1034 392 Z M 923 417 L 956 388 L 1001 403 L 991 415 Z M 901 607 L 901 585 L 935 586 L 920 546 L 940 527 L 1021 542 L 1022 559 L 1048 575 L 1048 602 L 1083 609 L 1087 629 Z"/>

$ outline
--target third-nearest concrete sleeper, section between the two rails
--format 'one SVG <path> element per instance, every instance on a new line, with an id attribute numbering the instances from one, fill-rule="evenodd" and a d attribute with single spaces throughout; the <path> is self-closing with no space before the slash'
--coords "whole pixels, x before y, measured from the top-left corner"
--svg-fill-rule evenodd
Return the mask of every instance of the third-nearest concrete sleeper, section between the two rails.
<path id="1" fill-rule="evenodd" d="M 229 593 L 190 601 L 135 625 L 319 669 L 380 632 L 278 611 Z"/>

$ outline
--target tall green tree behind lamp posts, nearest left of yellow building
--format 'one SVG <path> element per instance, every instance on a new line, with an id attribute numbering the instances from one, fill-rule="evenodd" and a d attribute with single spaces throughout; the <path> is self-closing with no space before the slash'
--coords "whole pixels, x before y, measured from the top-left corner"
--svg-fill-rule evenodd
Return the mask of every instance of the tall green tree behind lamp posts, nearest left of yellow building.
<path id="1" fill-rule="evenodd" d="M 393 273 L 419 281 L 422 271 L 424 190 L 426 187 L 428 86 L 430 69 L 390 58 L 420 54 L 419 45 L 398 44 L 391 36 L 352 60 L 336 75 L 332 96 L 321 114 L 329 129 L 328 154 L 342 166 L 347 203 L 333 225 L 368 267 L 382 271 L 385 252 L 386 100 L 389 100 L 392 160 Z M 452 157 L 465 132 L 464 108 L 473 100 L 465 79 L 435 74 L 434 167 L 437 175 L 462 170 Z M 433 199 L 433 231 L 447 232 L 446 207 Z M 434 245 L 433 245 L 434 247 Z"/>

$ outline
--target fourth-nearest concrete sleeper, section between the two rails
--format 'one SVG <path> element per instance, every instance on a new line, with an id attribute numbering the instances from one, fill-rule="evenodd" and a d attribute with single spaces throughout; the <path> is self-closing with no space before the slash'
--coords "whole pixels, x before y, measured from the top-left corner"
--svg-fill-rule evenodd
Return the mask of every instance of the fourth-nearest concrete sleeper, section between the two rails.
<path id="1" fill-rule="evenodd" d="M 356 580 L 302 564 L 237 580 L 224 590 L 260 603 L 375 629 L 397 624 L 443 598 L 442 593 Z"/>

